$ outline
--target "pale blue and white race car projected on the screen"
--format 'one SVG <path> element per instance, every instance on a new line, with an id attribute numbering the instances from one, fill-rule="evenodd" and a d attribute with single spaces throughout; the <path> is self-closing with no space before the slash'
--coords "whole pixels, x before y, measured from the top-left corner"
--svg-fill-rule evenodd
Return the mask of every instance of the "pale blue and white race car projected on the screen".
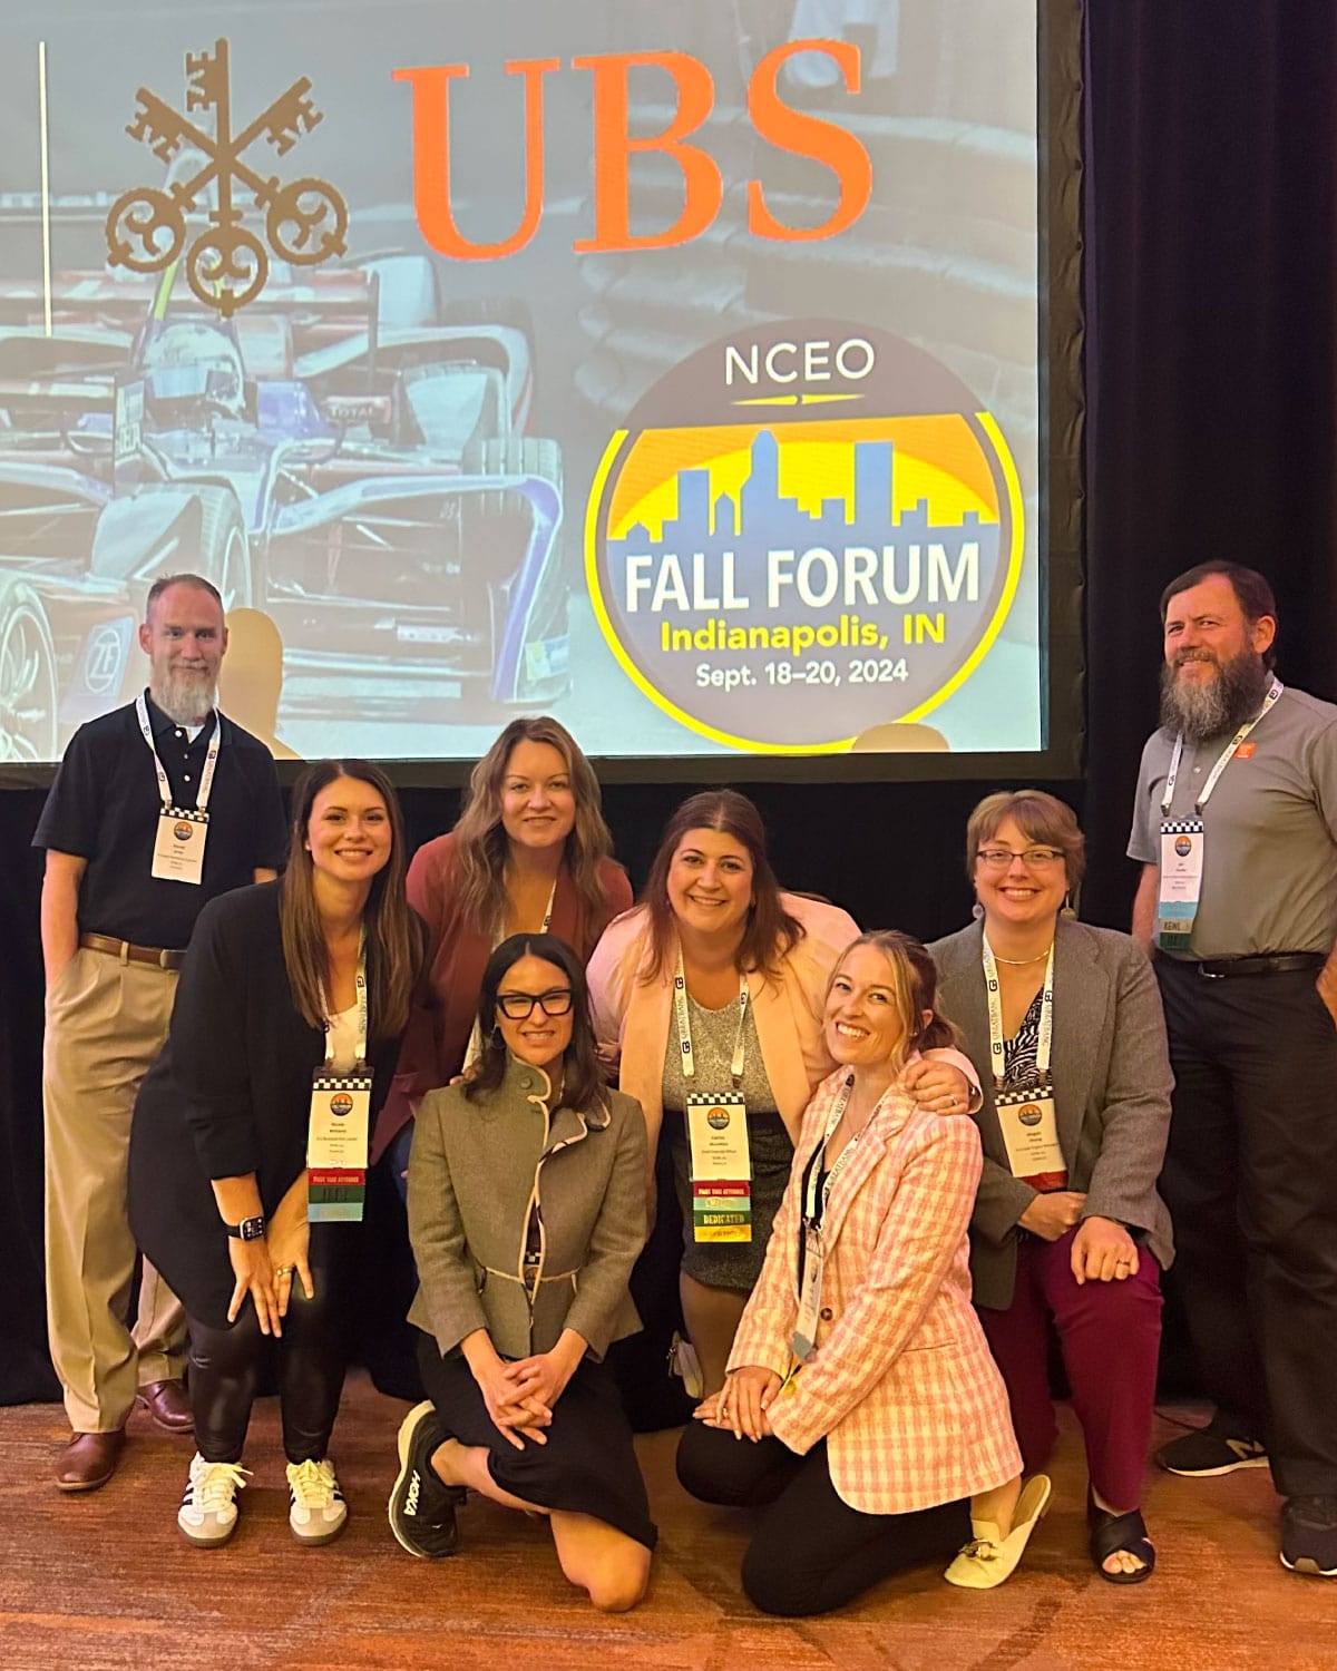
<path id="1" fill-rule="evenodd" d="M 431 673 L 473 710 L 565 693 L 562 451 L 525 434 L 523 317 L 441 309 L 416 256 L 276 272 L 231 323 L 175 289 L 62 279 L 48 336 L 33 286 L 0 286 L 0 760 L 135 688 L 174 570 L 267 613 L 287 670 Z"/>

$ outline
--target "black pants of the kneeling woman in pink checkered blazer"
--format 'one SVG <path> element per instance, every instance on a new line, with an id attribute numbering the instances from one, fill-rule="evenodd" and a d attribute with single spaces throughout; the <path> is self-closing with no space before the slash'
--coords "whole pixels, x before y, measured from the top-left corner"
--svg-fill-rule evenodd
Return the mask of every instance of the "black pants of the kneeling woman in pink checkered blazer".
<path id="1" fill-rule="evenodd" d="M 944 1561 L 971 1537 L 966 1499 L 913 1514 L 862 1514 L 831 1482 L 826 1439 L 806 1457 L 779 1439 L 735 1439 L 689 1422 L 679 1481 L 702 1502 L 764 1507 L 742 1557 L 742 1587 L 762 1613 L 829 1613 L 892 1572 Z"/>

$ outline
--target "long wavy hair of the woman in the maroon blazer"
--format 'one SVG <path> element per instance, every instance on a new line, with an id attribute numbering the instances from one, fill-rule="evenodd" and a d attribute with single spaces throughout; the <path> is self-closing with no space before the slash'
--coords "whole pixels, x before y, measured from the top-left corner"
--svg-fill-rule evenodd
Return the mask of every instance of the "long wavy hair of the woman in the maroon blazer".
<path id="1" fill-rule="evenodd" d="M 567 764 L 575 795 L 575 824 L 567 837 L 565 864 L 582 916 L 595 922 L 607 914 L 600 867 L 612 857 L 613 837 L 603 822 L 602 794 L 593 767 L 575 737 L 546 714 L 511 720 L 470 772 L 465 810 L 455 825 L 455 864 L 460 904 L 476 932 L 491 936 L 506 917 L 508 839 L 501 827 L 501 780 L 518 742 L 545 742 Z"/>

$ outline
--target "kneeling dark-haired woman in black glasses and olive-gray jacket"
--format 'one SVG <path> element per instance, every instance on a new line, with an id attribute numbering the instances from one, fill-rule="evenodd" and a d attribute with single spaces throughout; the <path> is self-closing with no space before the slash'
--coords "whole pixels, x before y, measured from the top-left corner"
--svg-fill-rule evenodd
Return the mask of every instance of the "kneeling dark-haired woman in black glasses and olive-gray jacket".
<path id="1" fill-rule="evenodd" d="M 645 1594 L 655 1527 L 600 1359 L 640 1323 L 645 1120 L 603 1084 L 585 971 L 552 934 L 491 954 L 473 1079 L 423 1098 L 408 1168 L 430 1402 L 399 1429 L 394 1536 L 455 1552 L 465 1487 L 546 1514 L 597 1608 Z"/>

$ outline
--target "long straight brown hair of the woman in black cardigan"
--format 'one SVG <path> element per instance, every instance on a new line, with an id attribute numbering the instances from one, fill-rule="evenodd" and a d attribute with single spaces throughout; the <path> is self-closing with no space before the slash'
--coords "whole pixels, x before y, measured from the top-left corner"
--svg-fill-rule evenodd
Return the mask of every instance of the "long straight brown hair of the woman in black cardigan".
<path id="1" fill-rule="evenodd" d="M 404 896 L 408 852 L 399 797 L 379 765 L 369 760 L 316 760 L 292 787 L 292 837 L 279 902 L 282 961 L 292 1003 L 304 1021 L 323 1028 L 326 1016 L 321 986 L 329 991 L 329 952 L 316 909 L 306 827 L 316 795 L 339 777 L 353 777 L 374 789 L 389 815 L 389 859 L 371 879 L 371 892 L 363 907 L 368 1033 L 371 1039 L 389 1039 L 408 1024 L 409 994 L 423 966 L 423 926 Z"/>

